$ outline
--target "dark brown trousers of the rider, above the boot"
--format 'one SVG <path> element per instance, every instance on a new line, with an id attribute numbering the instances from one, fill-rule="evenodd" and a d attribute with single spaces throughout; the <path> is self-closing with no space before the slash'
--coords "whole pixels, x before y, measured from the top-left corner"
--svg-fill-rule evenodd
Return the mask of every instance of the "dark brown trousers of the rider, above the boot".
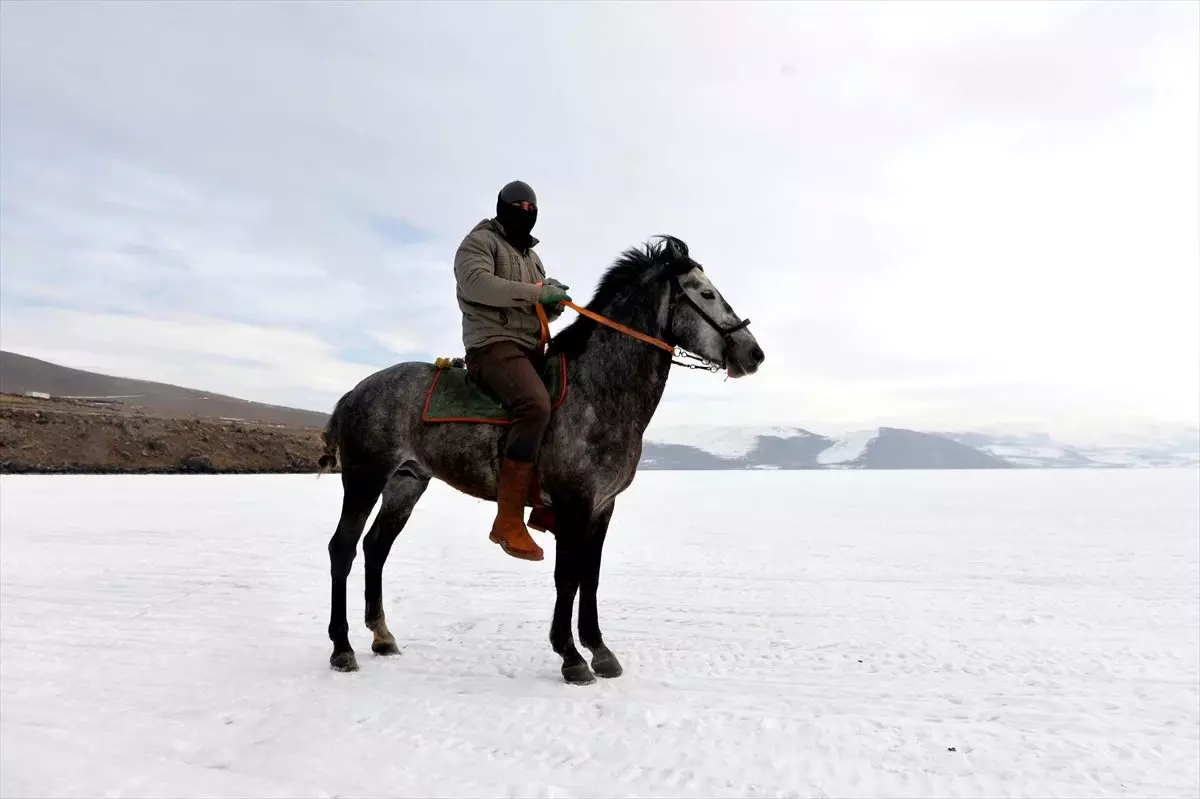
<path id="1" fill-rule="evenodd" d="M 467 373 L 491 389 L 512 414 L 505 457 L 533 463 L 550 423 L 550 395 L 541 379 L 541 355 L 500 341 L 467 350 Z"/>

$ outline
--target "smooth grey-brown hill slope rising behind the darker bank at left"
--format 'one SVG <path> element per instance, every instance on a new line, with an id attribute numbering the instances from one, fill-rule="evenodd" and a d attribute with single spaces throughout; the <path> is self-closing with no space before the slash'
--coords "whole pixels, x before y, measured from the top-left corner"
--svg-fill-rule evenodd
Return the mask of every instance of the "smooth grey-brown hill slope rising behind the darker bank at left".
<path id="1" fill-rule="evenodd" d="M 289 427 L 324 427 L 326 414 L 239 400 L 167 383 L 84 372 L 0 350 L 0 394 L 41 391 L 54 397 L 119 397 L 126 408 L 168 419 L 242 419 Z"/>

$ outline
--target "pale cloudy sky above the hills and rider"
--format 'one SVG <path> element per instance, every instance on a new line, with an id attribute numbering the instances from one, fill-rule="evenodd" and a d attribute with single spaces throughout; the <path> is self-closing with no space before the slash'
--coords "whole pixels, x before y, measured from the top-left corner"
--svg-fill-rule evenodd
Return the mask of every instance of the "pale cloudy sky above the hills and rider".
<path id="1" fill-rule="evenodd" d="M 754 319 L 660 421 L 1194 423 L 1198 8 L 5 2 L 0 346 L 324 410 L 520 178 L 577 300 L 667 232 Z"/>

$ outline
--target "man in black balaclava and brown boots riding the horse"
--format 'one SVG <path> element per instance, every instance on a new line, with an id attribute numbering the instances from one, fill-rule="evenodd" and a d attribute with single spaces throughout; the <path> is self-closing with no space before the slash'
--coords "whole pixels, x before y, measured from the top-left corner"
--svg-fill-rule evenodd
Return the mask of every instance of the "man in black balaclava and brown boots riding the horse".
<path id="1" fill-rule="evenodd" d="M 540 371 L 536 306 L 554 319 L 562 313 L 559 304 L 571 299 L 568 286 L 546 277 L 533 251 L 536 221 L 538 197 L 528 184 L 515 180 L 497 196 L 496 217 L 472 228 L 454 259 L 467 372 L 491 389 L 514 417 L 488 537 L 526 560 L 542 559 L 526 528 L 524 505 L 551 409 Z"/>

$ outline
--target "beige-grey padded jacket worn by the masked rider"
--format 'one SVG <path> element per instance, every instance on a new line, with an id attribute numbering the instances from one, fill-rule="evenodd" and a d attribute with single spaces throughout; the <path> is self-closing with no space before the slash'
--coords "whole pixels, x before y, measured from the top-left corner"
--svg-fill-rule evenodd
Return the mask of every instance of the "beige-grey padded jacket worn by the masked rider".
<path id="1" fill-rule="evenodd" d="M 518 251 L 502 230 L 496 220 L 484 220 L 472 228 L 455 253 L 462 343 L 467 349 L 497 341 L 534 349 L 541 342 L 536 311 L 541 289 L 536 284 L 546 278 L 546 269 L 532 247 Z M 546 312 L 553 320 L 562 310 L 547 307 Z"/>

